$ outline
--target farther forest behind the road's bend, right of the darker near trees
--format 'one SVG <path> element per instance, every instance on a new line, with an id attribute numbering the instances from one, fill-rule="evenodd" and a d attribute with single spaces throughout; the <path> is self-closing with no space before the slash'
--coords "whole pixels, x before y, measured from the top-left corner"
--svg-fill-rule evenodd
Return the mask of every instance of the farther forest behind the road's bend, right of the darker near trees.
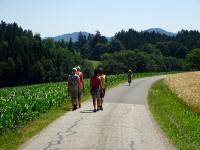
<path id="1" fill-rule="evenodd" d="M 200 33 L 195 30 L 167 36 L 129 29 L 110 41 L 99 31 L 88 37 L 80 32 L 73 48 L 85 58 L 100 60 L 108 74 L 126 73 L 130 68 L 135 72 L 200 69 Z"/>

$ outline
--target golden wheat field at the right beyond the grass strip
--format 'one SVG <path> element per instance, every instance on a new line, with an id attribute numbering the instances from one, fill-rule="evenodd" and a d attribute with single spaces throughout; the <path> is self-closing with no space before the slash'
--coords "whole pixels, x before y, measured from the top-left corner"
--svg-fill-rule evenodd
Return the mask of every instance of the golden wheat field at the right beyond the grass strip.
<path id="1" fill-rule="evenodd" d="M 200 71 L 169 75 L 165 83 L 184 102 L 200 112 Z"/>

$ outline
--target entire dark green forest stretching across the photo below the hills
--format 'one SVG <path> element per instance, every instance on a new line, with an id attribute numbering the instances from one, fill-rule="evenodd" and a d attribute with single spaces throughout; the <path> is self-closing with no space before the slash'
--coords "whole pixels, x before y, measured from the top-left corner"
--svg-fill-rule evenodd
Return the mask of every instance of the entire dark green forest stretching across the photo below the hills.
<path id="1" fill-rule="evenodd" d="M 16 23 L 0 24 L 0 86 L 66 80 L 80 65 L 86 77 L 99 60 L 107 74 L 200 69 L 200 33 L 181 30 L 176 36 L 155 32 L 120 31 L 107 40 L 99 31 L 77 42 L 42 39 Z"/>

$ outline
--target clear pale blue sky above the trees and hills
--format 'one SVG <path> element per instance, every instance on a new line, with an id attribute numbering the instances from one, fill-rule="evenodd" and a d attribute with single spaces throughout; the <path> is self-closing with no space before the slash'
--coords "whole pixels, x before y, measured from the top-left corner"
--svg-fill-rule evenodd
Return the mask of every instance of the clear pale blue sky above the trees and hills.
<path id="1" fill-rule="evenodd" d="M 133 28 L 200 31 L 200 0 L 0 0 L 0 20 L 42 37 Z"/>

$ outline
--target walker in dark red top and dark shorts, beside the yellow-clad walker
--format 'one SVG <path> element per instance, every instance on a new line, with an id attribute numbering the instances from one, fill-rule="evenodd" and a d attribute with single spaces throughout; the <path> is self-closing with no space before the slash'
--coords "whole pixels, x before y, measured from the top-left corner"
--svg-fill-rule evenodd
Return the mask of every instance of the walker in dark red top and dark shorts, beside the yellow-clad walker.
<path id="1" fill-rule="evenodd" d="M 97 69 L 94 70 L 94 76 L 90 79 L 90 93 L 92 95 L 94 112 L 98 111 L 96 106 L 99 106 L 99 99 L 100 99 L 100 88 L 101 88 L 101 81 L 98 76 L 99 71 Z"/>

